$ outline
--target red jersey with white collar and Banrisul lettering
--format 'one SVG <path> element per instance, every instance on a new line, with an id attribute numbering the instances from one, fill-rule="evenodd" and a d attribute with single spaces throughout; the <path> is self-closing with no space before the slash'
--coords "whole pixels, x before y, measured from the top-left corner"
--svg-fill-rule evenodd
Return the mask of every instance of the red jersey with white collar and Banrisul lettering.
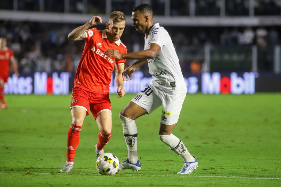
<path id="1" fill-rule="evenodd" d="M 109 42 L 107 30 L 97 28 L 86 30 L 86 41 L 81 60 L 74 79 L 74 87 L 79 87 L 93 93 L 109 93 L 111 73 L 115 63 L 122 64 L 125 59 L 115 59 L 104 55 L 108 49 L 117 49 L 127 53 L 126 46 L 120 41 Z"/>

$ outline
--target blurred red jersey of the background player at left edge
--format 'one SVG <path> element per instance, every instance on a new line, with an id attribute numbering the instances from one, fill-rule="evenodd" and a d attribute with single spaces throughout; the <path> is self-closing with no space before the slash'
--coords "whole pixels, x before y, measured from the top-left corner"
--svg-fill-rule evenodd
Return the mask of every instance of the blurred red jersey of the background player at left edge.
<path id="1" fill-rule="evenodd" d="M 0 76 L 9 76 L 10 58 L 14 56 L 12 49 L 0 50 Z"/>

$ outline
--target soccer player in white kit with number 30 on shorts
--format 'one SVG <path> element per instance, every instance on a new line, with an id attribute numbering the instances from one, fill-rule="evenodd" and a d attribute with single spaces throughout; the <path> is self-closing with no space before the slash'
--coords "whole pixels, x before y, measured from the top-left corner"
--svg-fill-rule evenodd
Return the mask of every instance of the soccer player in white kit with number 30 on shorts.
<path id="1" fill-rule="evenodd" d="M 190 174 L 198 167 L 198 162 L 188 152 L 183 142 L 172 134 L 187 90 L 171 37 L 162 26 L 159 26 L 159 23 L 153 23 L 153 11 L 147 4 L 138 5 L 133 9 L 132 20 L 133 27 L 145 34 L 144 50 L 121 54 L 115 49 L 109 49 L 104 55 L 116 59 L 140 59 L 124 70 L 122 76 L 127 81 L 129 77 L 132 80 L 135 69 L 148 63 L 153 82 L 140 91 L 120 112 L 128 158 L 120 163 L 119 170 L 140 170 L 135 119 L 150 114 L 162 105 L 159 138 L 183 158 L 183 168 L 177 174 Z"/>

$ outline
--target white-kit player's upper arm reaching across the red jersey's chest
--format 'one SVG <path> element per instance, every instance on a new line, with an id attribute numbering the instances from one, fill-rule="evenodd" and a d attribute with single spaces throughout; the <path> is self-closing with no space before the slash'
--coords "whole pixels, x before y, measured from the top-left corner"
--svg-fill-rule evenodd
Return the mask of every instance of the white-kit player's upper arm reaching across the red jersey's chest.
<path id="1" fill-rule="evenodd" d="M 114 57 L 116 59 L 149 59 L 155 58 L 155 56 L 159 53 L 161 47 L 158 44 L 150 44 L 150 48 L 143 51 L 138 51 L 134 53 L 120 53 L 116 49 L 108 49 L 104 52 L 104 55 L 109 57 Z"/>

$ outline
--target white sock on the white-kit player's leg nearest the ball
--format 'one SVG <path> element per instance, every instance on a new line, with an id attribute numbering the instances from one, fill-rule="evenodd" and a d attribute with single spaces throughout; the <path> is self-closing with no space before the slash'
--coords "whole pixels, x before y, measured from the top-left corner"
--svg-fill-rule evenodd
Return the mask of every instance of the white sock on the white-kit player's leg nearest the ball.
<path id="1" fill-rule="evenodd" d="M 121 114 L 119 114 L 119 118 L 123 125 L 124 138 L 128 149 L 128 160 L 135 164 L 139 160 L 137 156 L 137 125 L 135 120 L 126 118 Z"/>

